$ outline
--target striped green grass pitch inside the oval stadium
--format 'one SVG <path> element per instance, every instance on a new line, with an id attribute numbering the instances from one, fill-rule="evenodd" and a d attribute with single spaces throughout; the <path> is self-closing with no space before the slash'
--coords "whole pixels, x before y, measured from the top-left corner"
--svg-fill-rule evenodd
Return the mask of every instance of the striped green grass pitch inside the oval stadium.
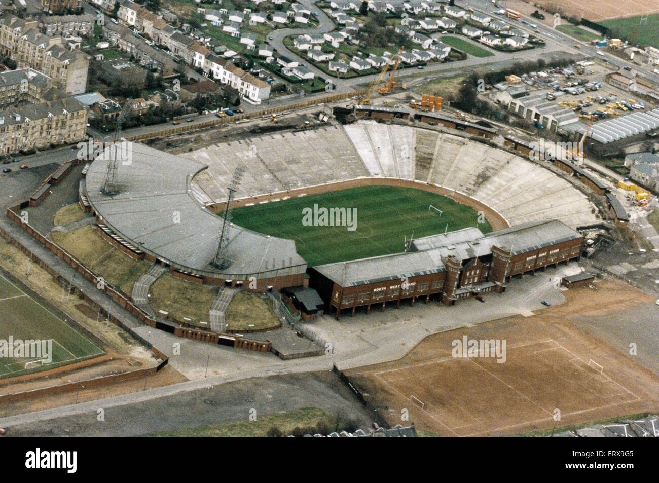
<path id="1" fill-rule="evenodd" d="M 305 213 L 317 205 L 319 223 L 308 225 Z M 436 209 L 431 209 L 430 206 Z M 356 213 L 354 231 L 347 223 L 321 226 L 322 208 L 346 208 Z M 305 210 L 305 211 L 303 211 Z M 309 217 L 311 218 L 311 217 Z M 450 198 L 414 188 L 361 186 L 301 196 L 233 210 L 236 225 L 273 237 L 295 240 L 297 252 L 309 266 L 403 252 L 405 238 L 415 239 L 466 227 L 492 231 L 478 223 L 478 213 Z"/>

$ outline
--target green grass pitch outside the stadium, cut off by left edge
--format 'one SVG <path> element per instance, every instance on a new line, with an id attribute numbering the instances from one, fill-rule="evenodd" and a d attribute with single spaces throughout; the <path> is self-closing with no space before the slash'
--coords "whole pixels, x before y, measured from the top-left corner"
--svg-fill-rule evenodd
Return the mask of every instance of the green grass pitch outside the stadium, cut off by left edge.
<path id="1" fill-rule="evenodd" d="M 30 346 L 25 341 L 30 340 L 46 341 L 46 345 L 40 343 L 39 348 L 52 348 L 51 362 L 43 361 L 43 353 L 35 356 L 35 353 L 16 352 L 28 349 Z M 13 344 L 9 349 L 13 350 L 0 353 L 0 378 L 52 369 L 105 354 L 96 343 L 0 274 L 0 347 L 7 349 L 10 341 Z"/>

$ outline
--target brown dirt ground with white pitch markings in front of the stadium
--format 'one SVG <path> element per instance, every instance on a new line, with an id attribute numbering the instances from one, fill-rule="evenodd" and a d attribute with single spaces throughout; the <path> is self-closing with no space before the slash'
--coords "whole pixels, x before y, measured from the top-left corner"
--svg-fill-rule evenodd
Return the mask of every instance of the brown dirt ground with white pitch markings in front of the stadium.
<path id="1" fill-rule="evenodd" d="M 567 291 L 565 304 L 538 315 L 431 335 L 401 360 L 346 375 L 374 406 L 387 408 L 391 424 L 409 409 L 418 428 L 444 436 L 520 434 L 657 411 L 659 378 L 570 322 L 623 312 L 650 297 L 615 280 L 596 287 Z M 464 335 L 505 340 L 505 362 L 451 356 L 451 343 Z"/>

